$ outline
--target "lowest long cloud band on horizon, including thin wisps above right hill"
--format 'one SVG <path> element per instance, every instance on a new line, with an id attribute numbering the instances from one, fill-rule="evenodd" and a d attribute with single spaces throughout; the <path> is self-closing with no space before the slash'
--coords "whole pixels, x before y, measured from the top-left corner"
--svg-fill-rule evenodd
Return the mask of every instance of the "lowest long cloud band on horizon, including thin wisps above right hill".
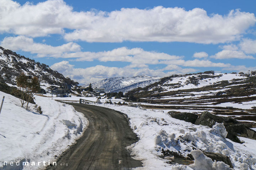
<path id="1" fill-rule="evenodd" d="M 192 63 L 192 64 L 189 64 Z M 231 64 L 224 63 L 213 63 L 210 61 L 183 61 L 179 60 L 179 63 L 169 64 L 165 68 L 162 69 L 150 69 L 147 65 L 145 67 L 107 67 L 107 66 L 93 66 L 87 68 L 74 68 L 74 65 L 70 64 L 69 61 L 62 61 L 59 63 L 55 63 L 50 68 L 53 70 L 57 70 L 62 73 L 66 77 L 70 77 L 71 79 L 78 81 L 80 84 L 90 83 L 93 81 L 98 81 L 105 78 L 110 77 L 132 77 L 136 75 L 149 75 L 149 76 L 159 76 L 159 77 L 167 77 L 172 74 L 186 74 L 186 73 L 195 73 L 199 71 L 199 69 L 194 68 L 182 68 L 180 67 L 197 67 L 195 63 L 199 63 L 200 65 L 204 65 L 205 67 L 224 67 L 223 69 L 236 68 L 236 66 L 232 66 Z M 167 63 L 166 63 L 167 64 Z M 180 65 L 180 66 L 179 66 Z M 201 67 L 201 66 L 198 66 Z M 166 72 L 166 70 L 171 70 Z M 230 69 L 232 70 L 232 69 Z M 233 69 L 236 70 L 236 69 Z"/>

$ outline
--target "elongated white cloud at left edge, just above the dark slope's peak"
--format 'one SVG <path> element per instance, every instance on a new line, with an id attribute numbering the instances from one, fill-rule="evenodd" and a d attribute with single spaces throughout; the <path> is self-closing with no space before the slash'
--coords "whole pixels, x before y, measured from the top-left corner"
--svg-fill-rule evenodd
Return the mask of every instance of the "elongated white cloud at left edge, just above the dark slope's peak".
<path id="1" fill-rule="evenodd" d="M 42 43 L 36 43 L 32 38 L 25 37 L 23 35 L 16 37 L 5 37 L 1 41 L 0 46 L 10 50 L 22 50 L 37 54 L 38 57 L 61 57 L 63 53 L 80 51 L 81 46 L 74 43 L 68 42 L 60 46 L 50 46 Z"/>

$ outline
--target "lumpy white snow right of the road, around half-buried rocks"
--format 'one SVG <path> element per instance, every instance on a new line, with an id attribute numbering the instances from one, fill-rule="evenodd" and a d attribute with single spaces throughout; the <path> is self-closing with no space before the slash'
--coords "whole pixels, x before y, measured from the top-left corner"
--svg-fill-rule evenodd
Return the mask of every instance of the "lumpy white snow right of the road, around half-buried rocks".
<path id="1" fill-rule="evenodd" d="M 222 162 L 213 162 L 205 157 L 199 149 L 206 152 L 217 152 L 227 155 L 234 169 L 256 169 L 255 140 L 240 138 L 243 144 L 226 139 L 223 124 L 216 124 L 213 128 L 171 118 L 164 111 L 149 111 L 135 107 L 118 106 L 115 104 L 96 104 L 111 108 L 128 115 L 130 126 L 140 140 L 128 149 L 135 155 L 134 159 L 142 160 L 143 167 L 138 170 L 225 170 L 230 169 Z M 161 149 L 169 149 L 182 153 L 184 156 L 192 151 L 195 158 L 193 165 L 171 165 L 162 159 Z"/>

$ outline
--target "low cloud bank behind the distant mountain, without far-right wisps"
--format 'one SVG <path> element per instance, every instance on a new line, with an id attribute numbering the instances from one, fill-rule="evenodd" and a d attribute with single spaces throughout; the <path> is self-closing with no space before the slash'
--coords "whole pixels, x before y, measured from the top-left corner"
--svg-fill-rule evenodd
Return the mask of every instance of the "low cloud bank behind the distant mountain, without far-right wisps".
<path id="1" fill-rule="evenodd" d="M 149 69 L 145 68 L 130 68 L 130 67 L 107 67 L 107 66 L 93 66 L 87 68 L 74 68 L 74 65 L 70 64 L 69 61 L 62 61 L 55 63 L 50 66 L 53 70 L 64 74 L 66 77 L 78 81 L 80 84 L 86 84 L 93 81 L 102 80 L 110 77 L 132 77 L 136 75 L 150 75 L 166 77 L 171 74 L 186 74 L 191 72 L 196 72 L 197 69 L 193 68 L 179 68 L 176 67 L 175 70 L 171 72 L 163 72 L 164 69 Z"/>

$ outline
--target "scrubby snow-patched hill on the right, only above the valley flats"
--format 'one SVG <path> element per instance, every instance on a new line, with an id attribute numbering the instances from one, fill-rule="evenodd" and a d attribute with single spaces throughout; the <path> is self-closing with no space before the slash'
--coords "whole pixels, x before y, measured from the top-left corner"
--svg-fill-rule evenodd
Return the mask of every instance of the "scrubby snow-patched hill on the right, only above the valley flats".
<path id="1" fill-rule="evenodd" d="M 246 102 L 256 97 L 256 76 L 251 73 L 172 75 L 128 95 L 153 103 L 218 104 L 224 98 L 225 102 Z"/>

